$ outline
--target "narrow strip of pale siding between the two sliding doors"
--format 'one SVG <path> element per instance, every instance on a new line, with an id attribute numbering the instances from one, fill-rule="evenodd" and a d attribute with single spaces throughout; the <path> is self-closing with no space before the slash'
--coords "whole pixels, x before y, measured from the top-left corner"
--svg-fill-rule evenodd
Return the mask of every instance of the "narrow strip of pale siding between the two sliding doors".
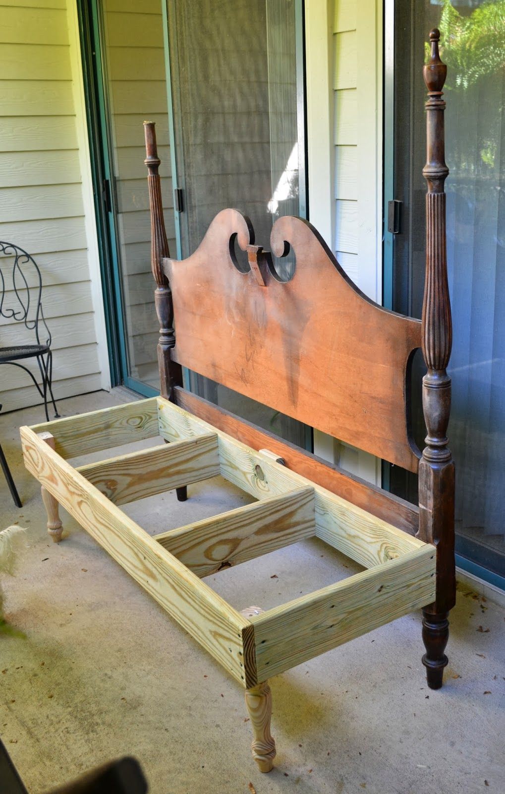
<path id="1" fill-rule="evenodd" d="M 376 0 L 335 0 L 335 253 L 370 298 L 381 301 L 381 108 Z"/>

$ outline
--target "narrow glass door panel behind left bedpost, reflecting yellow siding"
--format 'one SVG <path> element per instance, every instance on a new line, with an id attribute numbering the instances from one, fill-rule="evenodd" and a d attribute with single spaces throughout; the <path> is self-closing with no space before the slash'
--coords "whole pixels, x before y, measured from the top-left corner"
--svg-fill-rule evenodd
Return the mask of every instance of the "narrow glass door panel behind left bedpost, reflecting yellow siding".
<path id="1" fill-rule="evenodd" d="M 156 122 L 163 207 L 170 251 L 175 227 L 161 0 L 123 7 L 102 0 L 101 61 L 110 162 L 110 210 L 117 241 L 118 291 L 124 323 L 124 381 L 159 390 L 156 319 L 151 275 L 151 220 L 143 160 L 143 121 Z"/>

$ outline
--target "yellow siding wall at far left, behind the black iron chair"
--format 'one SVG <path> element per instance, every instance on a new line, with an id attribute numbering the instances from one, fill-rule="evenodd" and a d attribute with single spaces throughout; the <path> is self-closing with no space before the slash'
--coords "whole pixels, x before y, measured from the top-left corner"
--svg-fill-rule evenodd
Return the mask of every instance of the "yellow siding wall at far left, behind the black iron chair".
<path id="1" fill-rule="evenodd" d="M 31 253 L 42 272 L 56 399 L 103 384 L 76 129 L 76 46 L 65 0 L 0 2 L 0 239 Z M 24 326 L 2 318 L 0 345 L 23 341 L 32 341 Z M 35 362 L 24 363 L 37 372 Z M 40 403 L 25 372 L 3 366 L 1 374 L 3 410 Z"/>

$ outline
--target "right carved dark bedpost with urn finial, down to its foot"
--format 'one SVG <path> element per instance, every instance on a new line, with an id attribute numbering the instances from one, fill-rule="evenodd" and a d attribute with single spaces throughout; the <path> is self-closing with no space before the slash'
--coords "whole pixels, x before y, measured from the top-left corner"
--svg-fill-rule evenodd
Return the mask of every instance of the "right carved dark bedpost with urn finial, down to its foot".
<path id="1" fill-rule="evenodd" d="M 452 344 L 449 286 L 446 259 L 446 194 L 449 168 L 445 162 L 442 88 L 447 67 L 438 55 L 437 29 L 430 31 L 431 57 L 423 69 L 428 89 L 427 250 L 423 302 L 423 356 L 427 374 L 423 378 L 423 411 L 427 446 L 419 463 L 419 538 L 437 549 L 436 600 L 423 609 L 423 642 L 428 685 L 442 686 L 444 653 L 449 638 L 451 607 L 456 600 L 454 567 L 454 464 L 446 437 L 450 415 L 449 364 Z"/>

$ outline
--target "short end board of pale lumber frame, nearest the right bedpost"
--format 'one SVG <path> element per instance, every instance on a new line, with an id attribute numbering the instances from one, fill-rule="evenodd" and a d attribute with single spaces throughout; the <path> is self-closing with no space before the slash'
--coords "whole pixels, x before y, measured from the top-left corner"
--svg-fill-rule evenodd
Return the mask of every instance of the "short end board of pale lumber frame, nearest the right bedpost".
<path id="1" fill-rule="evenodd" d="M 251 617 L 258 681 L 431 603 L 435 549 L 425 545 Z"/>

